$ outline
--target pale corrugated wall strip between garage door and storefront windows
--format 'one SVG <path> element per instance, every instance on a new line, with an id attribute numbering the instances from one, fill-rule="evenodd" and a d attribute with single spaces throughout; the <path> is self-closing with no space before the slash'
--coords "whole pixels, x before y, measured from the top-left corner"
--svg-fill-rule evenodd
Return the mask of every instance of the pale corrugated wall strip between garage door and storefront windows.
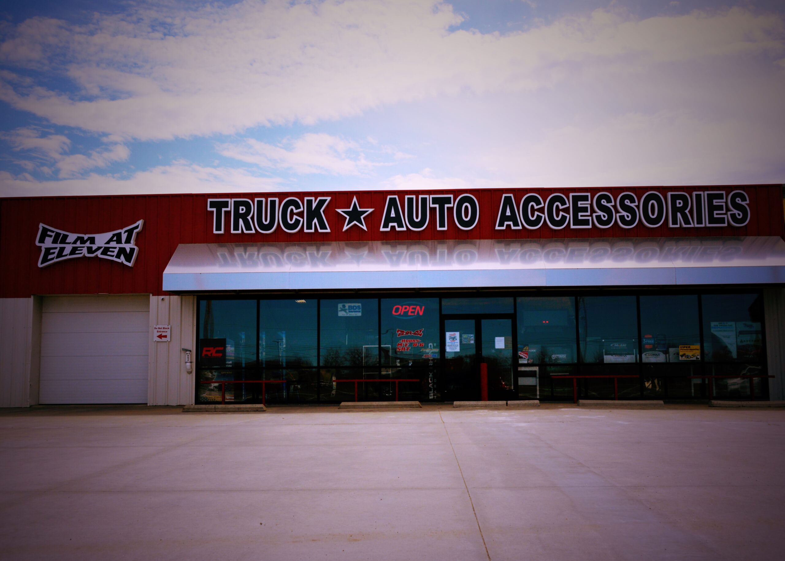
<path id="1" fill-rule="evenodd" d="M 150 332 L 153 325 L 171 325 L 172 340 L 150 340 L 148 405 L 190 405 L 194 402 L 196 357 L 196 297 L 151 296 Z M 193 351 L 194 372 L 185 371 L 185 353 Z"/>

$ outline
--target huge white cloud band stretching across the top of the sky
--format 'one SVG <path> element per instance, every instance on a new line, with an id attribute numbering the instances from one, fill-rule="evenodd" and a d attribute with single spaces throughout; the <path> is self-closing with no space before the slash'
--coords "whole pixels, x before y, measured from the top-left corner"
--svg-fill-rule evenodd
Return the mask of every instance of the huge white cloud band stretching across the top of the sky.
<path id="1" fill-rule="evenodd" d="M 597 68 L 634 75 L 655 63 L 785 52 L 780 16 L 739 8 L 645 20 L 600 9 L 505 35 L 456 29 L 461 20 L 429 0 L 164 4 L 79 26 L 35 18 L 7 35 L 0 61 L 65 68 L 82 92 L 3 75 L 0 99 L 54 123 L 174 138 L 311 124 L 466 90 L 537 90 Z"/>

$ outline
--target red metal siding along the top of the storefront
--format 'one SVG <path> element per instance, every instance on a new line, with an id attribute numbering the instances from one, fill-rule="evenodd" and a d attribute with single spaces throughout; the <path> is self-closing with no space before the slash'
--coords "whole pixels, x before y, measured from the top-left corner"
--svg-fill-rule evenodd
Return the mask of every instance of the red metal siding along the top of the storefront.
<path id="1" fill-rule="evenodd" d="M 133 294 L 151 292 L 162 294 L 162 273 L 177 244 L 204 243 L 258 243 L 284 241 L 363 241 L 363 240 L 468 240 L 468 239 L 564 239 L 602 237 L 707 237 L 707 236 L 785 236 L 780 185 L 690 186 L 690 187 L 629 187 L 592 189 L 537 189 L 543 200 L 553 192 L 569 195 L 570 192 L 611 192 L 615 197 L 622 192 L 634 192 L 638 199 L 645 192 L 722 190 L 730 192 L 743 189 L 750 196 L 750 222 L 735 228 L 669 228 L 666 224 L 648 228 L 642 222 L 632 229 L 617 225 L 608 229 L 570 229 L 569 226 L 553 230 L 547 225 L 540 229 L 494 229 L 502 195 L 512 193 L 516 200 L 530 189 L 486 189 L 472 192 L 480 203 L 480 222 L 469 231 L 458 229 L 450 220 L 445 231 L 436 230 L 435 220 L 421 232 L 380 232 L 385 201 L 390 192 L 298 192 L 298 193 L 219 193 L 195 195 L 142 195 L 142 196 L 88 196 L 42 197 L 0 200 L 0 259 L 3 274 L 0 294 L 4 298 L 24 298 L 29 295 L 49 294 Z M 452 194 L 466 191 L 407 191 L 403 195 Z M 289 234 L 276 229 L 272 234 L 214 234 L 212 214 L 207 211 L 210 198 L 250 198 L 254 196 L 330 196 L 325 216 L 330 233 Z M 366 217 L 368 232 L 352 227 L 342 232 L 343 217 L 335 208 L 348 208 L 357 196 L 361 207 L 375 210 Z M 35 245 L 38 223 L 43 222 L 57 229 L 72 233 L 103 233 L 130 226 L 144 218 L 144 228 L 137 236 L 139 255 L 133 268 L 107 259 L 70 259 L 45 268 L 38 268 L 40 253 Z M 228 217 L 227 217 L 228 220 Z M 228 232 L 228 228 L 227 228 Z"/>

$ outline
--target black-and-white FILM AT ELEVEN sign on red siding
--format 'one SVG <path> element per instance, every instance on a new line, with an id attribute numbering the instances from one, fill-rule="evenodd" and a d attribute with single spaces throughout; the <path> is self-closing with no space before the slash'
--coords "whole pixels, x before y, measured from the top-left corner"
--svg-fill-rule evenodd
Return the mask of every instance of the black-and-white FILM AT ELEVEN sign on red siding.
<path id="1" fill-rule="evenodd" d="M 46 267 L 77 257 L 100 257 L 133 267 L 139 254 L 139 248 L 134 244 L 142 225 L 144 220 L 113 232 L 77 234 L 39 224 L 35 239 L 35 244 L 41 248 L 38 266 Z"/>

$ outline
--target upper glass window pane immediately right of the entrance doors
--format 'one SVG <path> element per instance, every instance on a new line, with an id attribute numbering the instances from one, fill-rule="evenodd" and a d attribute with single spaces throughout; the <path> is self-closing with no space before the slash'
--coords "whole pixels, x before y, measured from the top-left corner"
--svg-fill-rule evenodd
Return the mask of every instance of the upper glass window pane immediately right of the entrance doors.
<path id="1" fill-rule="evenodd" d="M 520 364 L 575 362 L 574 298 L 519 298 L 517 310 Z"/>

